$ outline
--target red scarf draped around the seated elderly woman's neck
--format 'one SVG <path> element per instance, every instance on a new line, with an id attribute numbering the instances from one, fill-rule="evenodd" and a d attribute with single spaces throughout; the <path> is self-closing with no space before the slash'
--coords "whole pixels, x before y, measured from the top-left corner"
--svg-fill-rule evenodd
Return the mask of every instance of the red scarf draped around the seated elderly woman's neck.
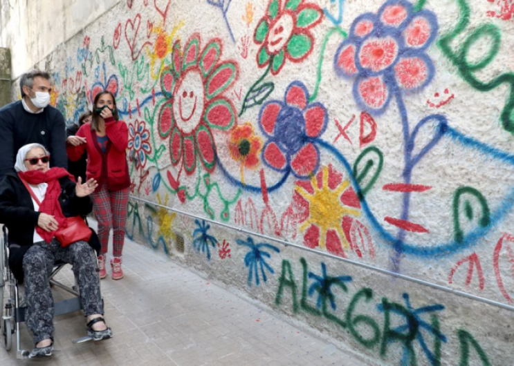
<path id="1" fill-rule="evenodd" d="M 62 224 L 64 224 L 66 218 L 62 213 L 61 204 L 59 204 L 59 195 L 61 195 L 61 185 L 59 184 L 59 178 L 70 177 L 70 179 L 75 182 L 73 175 L 68 173 L 63 168 L 50 168 L 48 171 L 46 171 L 46 173 L 43 173 L 42 171 L 19 171 L 18 176 L 21 178 L 21 180 L 24 180 L 29 184 L 48 184 L 43 202 L 41 202 L 39 205 L 39 212 L 53 215 L 59 224 L 59 227 L 62 227 Z M 55 230 L 47 232 L 39 227 L 39 225 L 36 226 L 36 232 L 47 243 L 51 242 L 55 235 Z"/>

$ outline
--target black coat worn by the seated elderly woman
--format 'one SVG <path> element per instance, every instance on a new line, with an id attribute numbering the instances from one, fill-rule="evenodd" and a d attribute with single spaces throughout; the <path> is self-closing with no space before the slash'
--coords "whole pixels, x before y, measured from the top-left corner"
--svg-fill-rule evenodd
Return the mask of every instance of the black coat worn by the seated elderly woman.
<path id="1" fill-rule="evenodd" d="M 59 179 L 59 184 L 61 185 L 59 203 L 64 216 L 71 218 L 91 212 L 93 209 L 91 198 L 77 197 L 75 182 L 69 177 L 62 177 Z M 0 224 L 5 224 L 8 229 L 9 267 L 19 281 L 23 278 L 23 257 L 33 245 L 34 229 L 38 218 L 39 211 L 34 211 L 30 193 L 18 175 L 16 173 L 4 175 L 0 180 Z"/>

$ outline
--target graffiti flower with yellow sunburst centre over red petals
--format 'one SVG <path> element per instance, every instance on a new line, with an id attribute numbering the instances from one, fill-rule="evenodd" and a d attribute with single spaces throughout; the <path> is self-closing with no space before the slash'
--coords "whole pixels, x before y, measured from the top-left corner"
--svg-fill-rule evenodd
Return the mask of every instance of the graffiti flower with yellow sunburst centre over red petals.
<path id="1" fill-rule="evenodd" d="M 331 165 L 295 186 L 300 231 L 304 232 L 306 247 L 327 247 L 336 256 L 345 256 L 341 244 L 348 247 L 345 235 L 347 217 L 360 215 L 360 202 L 348 180 Z"/>

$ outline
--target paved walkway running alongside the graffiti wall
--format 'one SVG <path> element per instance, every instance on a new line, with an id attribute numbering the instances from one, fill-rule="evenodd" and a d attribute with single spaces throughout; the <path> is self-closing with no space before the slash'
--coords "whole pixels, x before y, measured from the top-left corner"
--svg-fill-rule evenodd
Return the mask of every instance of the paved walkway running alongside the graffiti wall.
<path id="1" fill-rule="evenodd" d="M 102 280 L 114 338 L 73 345 L 85 336 L 84 318 L 59 316 L 57 351 L 38 365 L 364 365 L 146 247 L 127 240 L 123 254 L 125 278 Z M 70 266 L 59 276 L 71 284 Z M 68 295 L 57 288 L 54 297 Z M 31 349 L 25 325 L 21 336 Z M 15 344 L 7 352 L 1 341 L 0 365 L 35 365 L 16 360 Z"/>

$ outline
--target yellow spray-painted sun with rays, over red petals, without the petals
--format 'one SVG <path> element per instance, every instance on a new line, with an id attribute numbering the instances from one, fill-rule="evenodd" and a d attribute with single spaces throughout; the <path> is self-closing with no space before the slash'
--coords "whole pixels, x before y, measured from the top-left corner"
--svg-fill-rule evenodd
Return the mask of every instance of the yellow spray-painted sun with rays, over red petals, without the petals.
<path id="1" fill-rule="evenodd" d="M 324 248 L 327 240 L 327 231 L 335 230 L 339 234 L 345 249 L 349 247 L 344 231 L 342 230 L 341 221 L 344 216 L 351 215 L 358 217 L 360 211 L 342 205 L 340 202 L 341 194 L 348 188 L 350 182 L 343 180 L 336 189 L 329 188 L 329 168 L 322 168 L 322 187 L 318 187 L 316 177 L 311 177 L 311 186 L 314 193 L 307 192 L 300 186 L 296 186 L 295 190 L 305 200 L 309 202 L 309 218 L 300 225 L 300 231 L 305 231 L 311 224 L 320 228 L 320 247 Z"/>

